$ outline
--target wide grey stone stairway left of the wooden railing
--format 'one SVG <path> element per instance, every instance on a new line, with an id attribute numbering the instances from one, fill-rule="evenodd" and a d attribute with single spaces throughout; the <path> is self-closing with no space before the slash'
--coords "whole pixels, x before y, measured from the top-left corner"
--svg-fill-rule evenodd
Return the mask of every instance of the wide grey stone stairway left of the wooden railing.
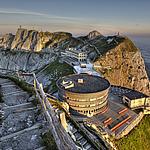
<path id="1" fill-rule="evenodd" d="M 3 103 L 0 103 L 1 150 L 45 149 L 41 134 L 45 132 L 39 107 L 29 102 L 30 95 L 14 82 L 0 78 Z"/>

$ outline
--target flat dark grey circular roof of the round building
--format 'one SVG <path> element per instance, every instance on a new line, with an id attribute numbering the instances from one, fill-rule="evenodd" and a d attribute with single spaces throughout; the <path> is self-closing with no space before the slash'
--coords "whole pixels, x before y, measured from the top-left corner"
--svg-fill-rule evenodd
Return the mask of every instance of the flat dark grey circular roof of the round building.
<path id="1" fill-rule="evenodd" d="M 78 79 L 83 79 L 83 83 L 78 83 Z M 88 74 L 73 74 L 59 79 L 57 86 L 62 89 L 64 89 L 61 85 L 63 80 L 71 80 L 74 83 L 74 87 L 66 89 L 74 93 L 95 93 L 110 87 L 108 80 Z"/>

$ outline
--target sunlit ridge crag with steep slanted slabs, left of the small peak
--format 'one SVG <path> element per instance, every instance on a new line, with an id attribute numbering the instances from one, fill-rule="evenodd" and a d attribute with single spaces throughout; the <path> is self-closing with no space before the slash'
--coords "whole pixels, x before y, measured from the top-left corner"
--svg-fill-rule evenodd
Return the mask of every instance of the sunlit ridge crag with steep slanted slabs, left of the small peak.
<path id="1" fill-rule="evenodd" d="M 18 29 L 11 44 L 11 49 L 41 51 L 44 48 L 57 46 L 61 41 L 69 39 L 72 34 L 66 32 L 38 32 Z"/>

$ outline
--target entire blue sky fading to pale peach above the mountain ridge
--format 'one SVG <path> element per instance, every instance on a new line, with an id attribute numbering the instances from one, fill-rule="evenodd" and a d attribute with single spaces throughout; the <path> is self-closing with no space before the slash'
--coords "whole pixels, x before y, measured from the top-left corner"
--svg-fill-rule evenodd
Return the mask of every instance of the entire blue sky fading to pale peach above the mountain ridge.
<path id="1" fill-rule="evenodd" d="M 150 0 L 0 0 L 0 34 L 22 28 L 74 35 L 150 34 Z"/>

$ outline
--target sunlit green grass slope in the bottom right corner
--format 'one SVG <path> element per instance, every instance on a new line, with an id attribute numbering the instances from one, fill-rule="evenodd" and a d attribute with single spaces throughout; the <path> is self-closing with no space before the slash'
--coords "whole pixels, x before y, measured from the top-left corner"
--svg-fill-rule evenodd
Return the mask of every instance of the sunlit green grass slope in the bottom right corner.
<path id="1" fill-rule="evenodd" d="M 119 150 L 148 150 L 150 148 L 150 116 L 145 116 L 129 135 L 116 141 L 116 145 Z"/>

